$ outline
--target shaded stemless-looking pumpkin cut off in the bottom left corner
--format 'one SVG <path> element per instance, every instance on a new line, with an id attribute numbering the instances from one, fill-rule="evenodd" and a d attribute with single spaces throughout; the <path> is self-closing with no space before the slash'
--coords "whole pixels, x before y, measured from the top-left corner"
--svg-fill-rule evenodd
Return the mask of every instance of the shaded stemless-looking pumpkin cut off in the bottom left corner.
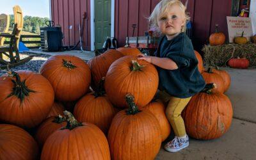
<path id="1" fill-rule="evenodd" d="M 0 124 L 0 159 L 37 159 L 36 141 L 20 127 Z"/>

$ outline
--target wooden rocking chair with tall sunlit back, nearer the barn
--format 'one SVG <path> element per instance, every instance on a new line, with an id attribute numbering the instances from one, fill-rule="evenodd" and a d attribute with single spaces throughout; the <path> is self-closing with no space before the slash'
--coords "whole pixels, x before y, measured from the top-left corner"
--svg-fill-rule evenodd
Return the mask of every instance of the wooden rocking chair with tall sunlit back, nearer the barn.
<path id="1" fill-rule="evenodd" d="M 22 17 L 22 10 L 19 6 L 13 6 L 13 13 L 14 13 L 14 26 L 12 34 L 9 33 L 2 33 L 0 36 L 10 38 L 10 45 L 9 46 L 0 46 L 0 68 L 12 68 L 18 65 L 22 65 L 33 58 L 33 56 L 29 56 L 20 60 L 19 55 L 19 39 L 20 33 L 23 28 L 23 17 Z M 15 54 L 14 54 L 15 53 Z M 10 58 L 10 61 L 6 61 L 3 59 L 3 54 Z M 1 65 L 2 64 L 2 65 Z"/>

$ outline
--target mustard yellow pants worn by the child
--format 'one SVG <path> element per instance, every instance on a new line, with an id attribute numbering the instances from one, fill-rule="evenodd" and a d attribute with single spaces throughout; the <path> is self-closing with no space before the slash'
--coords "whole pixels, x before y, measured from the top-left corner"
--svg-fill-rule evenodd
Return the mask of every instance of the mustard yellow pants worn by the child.
<path id="1" fill-rule="evenodd" d="M 167 103 L 169 101 L 165 113 L 170 124 L 172 125 L 175 136 L 185 136 L 186 129 L 184 121 L 180 114 L 182 110 L 187 106 L 191 97 L 188 97 L 186 99 L 180 99 L 177 97 L 172 97 L 168 93 L 161 91 L 157 93 L 157 97 L 163 100 L 164 103 Z"/>

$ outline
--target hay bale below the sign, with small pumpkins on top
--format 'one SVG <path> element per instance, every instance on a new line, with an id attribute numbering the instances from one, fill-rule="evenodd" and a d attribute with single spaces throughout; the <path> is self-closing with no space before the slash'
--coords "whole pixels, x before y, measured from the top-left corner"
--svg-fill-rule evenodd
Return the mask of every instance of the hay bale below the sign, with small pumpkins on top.
<path id="1" fill-rule="evenodd" d="M 224 44 L 224 45 L 205 45 L 202 51 L 204 54 L 204 65 L 227 66 L 226 63 L 231 58 L 247 58 L 250 66 L 256 65 L 256 44 Z"/>

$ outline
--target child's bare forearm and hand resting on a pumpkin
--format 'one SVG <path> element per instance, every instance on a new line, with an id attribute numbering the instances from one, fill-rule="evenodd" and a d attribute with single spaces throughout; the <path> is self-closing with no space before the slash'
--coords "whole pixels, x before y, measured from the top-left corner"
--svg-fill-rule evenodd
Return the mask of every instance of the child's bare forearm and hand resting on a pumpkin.
<path id="1" fill-rule="evenodd" d="M 145 56 L 144 54 L 140 54 L 140 58 L 138 60 L 145 60 L 153 65 L 157 65 L 158 67 L 167 69 L 167 70 L 175 70 L 178 68 L 177 64 L 171 60 L 170 58 L 159 58 L 155 56 Z"/>

